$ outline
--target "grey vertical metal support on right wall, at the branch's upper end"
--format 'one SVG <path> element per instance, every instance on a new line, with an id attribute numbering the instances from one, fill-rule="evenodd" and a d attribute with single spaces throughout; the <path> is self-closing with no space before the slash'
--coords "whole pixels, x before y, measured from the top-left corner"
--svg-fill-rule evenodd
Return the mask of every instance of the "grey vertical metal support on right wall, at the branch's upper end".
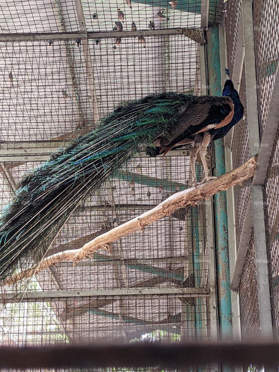
<path id="1" fill-rule="evenodd" d="M 246 90 L 247 90 L 247 112 L 248 112 L 248 132 L 250 156 L 258 153 L 260 148 L 259 122 L 257 110 L 257 90 L 256 90 L 256 61 L 254 49 L 254 30 L 253 30 L 253 9 L 251 0 L 243 0 L 243 24 L 244 27 L 244 53 L 246 71 Z M 267 266 L 267 246 L 264 224 L 263 210 L 263 190 L 262 186 L 251 188 L 253 221 L 254 221 L 254 240 L 257 265 L 257 284 L 259 294 L 260 325 L 261 335 L 272 337 L 272 315 L 269 293 L 269 277 Z"/>

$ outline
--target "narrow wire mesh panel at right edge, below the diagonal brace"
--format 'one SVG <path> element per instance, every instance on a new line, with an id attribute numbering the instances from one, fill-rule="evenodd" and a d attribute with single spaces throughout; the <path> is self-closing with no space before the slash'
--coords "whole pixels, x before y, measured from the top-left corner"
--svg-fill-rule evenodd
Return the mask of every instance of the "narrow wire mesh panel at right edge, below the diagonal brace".
<path id="1" fill-rule="evenodd" d="M 267 237 L 269 285 L 273 329 L 279 336 L 279 131 L 276 134 L 266 180 L 264 182 L 264 212 Z"/>

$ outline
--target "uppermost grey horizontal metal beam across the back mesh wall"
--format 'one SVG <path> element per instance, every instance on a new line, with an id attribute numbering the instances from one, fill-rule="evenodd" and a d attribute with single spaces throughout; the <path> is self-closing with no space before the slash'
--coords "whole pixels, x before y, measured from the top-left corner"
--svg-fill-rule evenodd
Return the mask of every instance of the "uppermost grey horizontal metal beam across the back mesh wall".
<path id="1" fill-rule="evenodd" d="M 160 36 L 160 35 L 185 35 L 193 39 L 193 33 L 202 33 L 200 28 L 170 28 L 163 30 L 141 30 L 141 31 L 104 31 L 104 32 L 87 32 L 86 33 L 48 33 L 48 34 L 17 34 L 0 36 L 0 42 L 12 41 L 40 41 L 40 40 L 64 40 L 64 39 L 94 39 L 94 38 L 131 38 L 135 36 Z M 205 42 L 200 36 L 198 42 Z"/>

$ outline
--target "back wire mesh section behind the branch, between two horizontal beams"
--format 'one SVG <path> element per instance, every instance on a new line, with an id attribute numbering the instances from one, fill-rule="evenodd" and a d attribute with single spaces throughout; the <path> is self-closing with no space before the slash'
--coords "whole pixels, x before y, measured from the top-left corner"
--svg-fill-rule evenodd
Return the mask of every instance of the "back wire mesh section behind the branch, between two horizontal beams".
<path id="1" fill-rule="evenodd" d="M 38 163 L 4 163 L 3 202 L 11 180 Z M 179 169 L 179 173 L 177 173 Z M 4 173 L 6 171 L 6 173 Z M 7 179 L 7 172 L 10 178 Z M 150 176 L 152 174 L 152 176 Z M 70 219 L 48 255 L 81 248 L 89 240 L 148 211 L 187 188 L 189 158 L 134 158 Z M 41 290 L 68 291 L 119 288 L 208 286 L 206 203 L 180 208 L 169 217 L 112 243 L 112 254 L 99 250 L 93 259 L 73 266 L 56 264 L 37 275 Z M 17 287 L 15 290 L 17 291 Z"/>

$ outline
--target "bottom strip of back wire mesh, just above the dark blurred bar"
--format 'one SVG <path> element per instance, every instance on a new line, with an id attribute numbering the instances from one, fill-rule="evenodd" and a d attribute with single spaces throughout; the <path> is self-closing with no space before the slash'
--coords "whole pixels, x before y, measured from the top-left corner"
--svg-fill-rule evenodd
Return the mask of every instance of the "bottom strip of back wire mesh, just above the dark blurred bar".
<path id="1" fill-rule="evenodd" d="M 1 308 L 0 344 L 201 339 L 210 335 L 207 312 L 206 297 L 183 294 L 28 299 Z"/>

